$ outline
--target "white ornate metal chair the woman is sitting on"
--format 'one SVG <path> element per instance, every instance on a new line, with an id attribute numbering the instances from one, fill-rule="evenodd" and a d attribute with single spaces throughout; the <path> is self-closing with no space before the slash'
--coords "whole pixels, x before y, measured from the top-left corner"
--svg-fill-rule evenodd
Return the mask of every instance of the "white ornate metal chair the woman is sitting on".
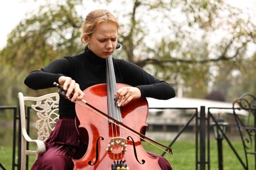
<path id="1" fill-rule="evenodd" d="M 23 93 L 18 93 L 20 105 L 20 122 L 21 122 L 21 169 L 26 169 L 27 156 L 38 155 L 45 152 L 46 139 L 53 131 L 56 121 L 58 120 L 58 93 L 49 93 L 39 97 L 24 96 Z M 28 104 L 30 103 L 30 104 Z M 28 135 L 26 113 L 29 109 L 34 110 L 37 114 L 37 120 L 33 127 L 37 130 L 37 139 L 32 139 Z M 36 143 L 36 150 L 28 150 L 27 143 Z"/>

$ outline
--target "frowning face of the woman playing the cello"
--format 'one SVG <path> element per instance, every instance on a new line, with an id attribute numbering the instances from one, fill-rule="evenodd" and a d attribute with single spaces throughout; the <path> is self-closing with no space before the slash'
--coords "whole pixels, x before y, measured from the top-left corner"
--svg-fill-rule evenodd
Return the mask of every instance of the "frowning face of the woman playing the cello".
<path id="1" fill-rule="evenodd" d="M 90 37 L 85 38 L 89 49 L 100 58 L 109 58 L 117 45 L 117 26 L 112 22 L 102 22 Z"/>

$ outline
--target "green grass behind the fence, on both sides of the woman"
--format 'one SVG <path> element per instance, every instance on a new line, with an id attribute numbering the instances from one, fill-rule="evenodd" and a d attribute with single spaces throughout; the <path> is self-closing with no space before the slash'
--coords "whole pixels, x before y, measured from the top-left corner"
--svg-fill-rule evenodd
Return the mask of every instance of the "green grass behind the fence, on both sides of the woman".
<path id="1" fill-rule="evenodd" d="M 169 141 L 162 141 L 161 143 L 168 145 Z M 242 156 L 243 150 L 240 141 L 232 141 L 232 145 L 237 149 L 237 152 L 241 152 Z M 143 146 L 145 150 L 156 154 L 163 152 L 148 143 L 143 143 Z M 171 163 L 173 169 L 196 169 L 196 148 L 194 141 L 177 141 L 171 148 L 173 149 L 173 155 L 165 154 L 164 157 Z M 210 169 L 215 170 L 218 169 L 217 143 L 215 140 L 211 141 L 210 150 Z M 30 166 L 34 160 L 35 158 L 30 156 Z M 6 169 L 12 169 L 12 146 L 0 146 L 0 163 Z M 249 169 L 254 169 L 254 163 L 253 156 L 249 156 Z M 226 141 L 223 141 L 223 164 L 225 170 L 243 169 Z"/>

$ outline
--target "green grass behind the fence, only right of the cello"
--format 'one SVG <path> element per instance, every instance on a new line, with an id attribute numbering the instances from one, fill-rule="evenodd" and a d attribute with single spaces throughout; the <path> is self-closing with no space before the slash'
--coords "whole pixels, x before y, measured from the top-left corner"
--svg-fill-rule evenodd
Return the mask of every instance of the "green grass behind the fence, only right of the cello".
<path id="1" fill-rule="evenodd" d="M 167 141 L 163 141 L 162 143 L 165 145 L 169 144 Z M 162 154 L 161 150 L 150 146 L 148 143 L 144 143 L 143 145 L 145 150 Z M 244 159 L 241 141 L 232 141 L 232 145 L 236 148 L 236 152 L 240 152 L 240 157 Z M 171 148 L 173 155 L 165 154 L 164 157 L 171 163 L 173 169 L 196 169 L 196 147 L 194 141 L 176 141 Z M 198 156 L 200 156 L 199 154 L 200 152 L 198 152 Z M 249 156 L 248 162 L 249 169 L 254 169 L 255 162 L 252 155 Z M 210 165 L 210 169 L 219 169 L 217 143 L 215 140 L 211 141 L 210 144 Z M 244 169 L 226 141 L 223 141 L 223 167 L 225 170 Z M 200 166 L 198 166 L 198 169 L 200 169 Z"/>

